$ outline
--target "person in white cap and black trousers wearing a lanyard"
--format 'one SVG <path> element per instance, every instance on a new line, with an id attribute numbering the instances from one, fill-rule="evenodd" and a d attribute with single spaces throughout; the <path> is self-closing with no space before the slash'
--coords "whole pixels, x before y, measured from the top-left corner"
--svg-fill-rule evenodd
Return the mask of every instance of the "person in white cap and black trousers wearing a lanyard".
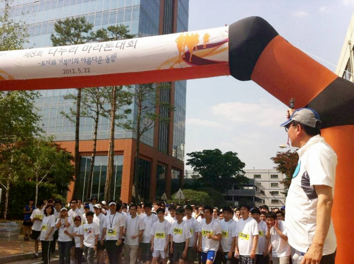
<path id="1" fill-rule="evenodd" d="M 125 217 L 117 212 L 121 204 L 114 201 L 108 203 L 110 214 L 106 216 L 103 223 L 101 245 L 106 246 L 108 259 L 110 263 L 118 263 L 118 256 L 122 250 L 122 236 L 125 225 Z M 104 243 L 106 240 L 106 243 Z"/>

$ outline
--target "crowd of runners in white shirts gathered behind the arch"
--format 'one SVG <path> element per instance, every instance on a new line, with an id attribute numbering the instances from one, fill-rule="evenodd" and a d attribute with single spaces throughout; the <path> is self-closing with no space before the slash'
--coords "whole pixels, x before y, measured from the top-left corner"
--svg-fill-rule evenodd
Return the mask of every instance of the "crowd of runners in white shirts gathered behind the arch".
<path id="1" fill-rule="evenodd" d="M 267 205 L 249 208 L 247 204 L 238 208 L 164 202 L 127 205 L 98 202 L 96 197 L 84 204 L 72 199 L 68 207 L 59 199 L 27 207 L 34 259 L 40 241 L 44 263 L 49 263 L 56 244 L 60 263 L 121 263 L 122 255 L 127 264 L 290 261 L 284 207 L 269 211 Z"/>

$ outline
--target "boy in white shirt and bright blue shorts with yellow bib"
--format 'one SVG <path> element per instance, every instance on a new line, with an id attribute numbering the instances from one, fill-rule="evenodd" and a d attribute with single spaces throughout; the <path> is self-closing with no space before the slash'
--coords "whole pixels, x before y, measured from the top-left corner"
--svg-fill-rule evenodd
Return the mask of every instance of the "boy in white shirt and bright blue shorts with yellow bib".
<path id="1" fill-rule="evenodd" d="M 211 206 L 204 207 L 204 220 L 200 222 L 198 250 L 201 253 L 201 262 L 212 264 L 222 239 L 222 230 L 219 222 L 212 217 Z"/>

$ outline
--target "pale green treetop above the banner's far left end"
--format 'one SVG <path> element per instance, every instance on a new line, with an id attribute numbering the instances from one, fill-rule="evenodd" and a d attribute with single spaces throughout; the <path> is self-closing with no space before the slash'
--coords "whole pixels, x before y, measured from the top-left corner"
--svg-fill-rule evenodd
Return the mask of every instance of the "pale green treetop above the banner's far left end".
<path id="1" fill-rule="evenodd" d="M 11 51 L 23 49 L 28 43 L 27 25 L 23 21 L 14 21 L 10 18 L 10 5 L 5 0 L 5 9 L 0 15 L 0 51 Z"/>

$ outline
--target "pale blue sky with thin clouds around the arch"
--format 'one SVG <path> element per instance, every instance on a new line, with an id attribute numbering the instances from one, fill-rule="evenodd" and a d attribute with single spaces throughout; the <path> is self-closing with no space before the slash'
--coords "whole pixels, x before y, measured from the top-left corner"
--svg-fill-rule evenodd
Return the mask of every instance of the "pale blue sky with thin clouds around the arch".
<path id="1" fill-rule="evenodd" d="M 354 11 L 354 0 L 189 3 L 189 30 L 260 16 L 292 45 L 316 56 L 313 58 L 332 71 Z M 272 169 L 270 158 L 287 142 L 285 129 L 279 127 L 286 120 L 286 110 L 285 104 L 252 81 L 232 76 L 188 80 L 185 153 L 218 148 L 237 152 L 245 169 Z M 187 159 L 188 155 L 185 162 Z"/>

